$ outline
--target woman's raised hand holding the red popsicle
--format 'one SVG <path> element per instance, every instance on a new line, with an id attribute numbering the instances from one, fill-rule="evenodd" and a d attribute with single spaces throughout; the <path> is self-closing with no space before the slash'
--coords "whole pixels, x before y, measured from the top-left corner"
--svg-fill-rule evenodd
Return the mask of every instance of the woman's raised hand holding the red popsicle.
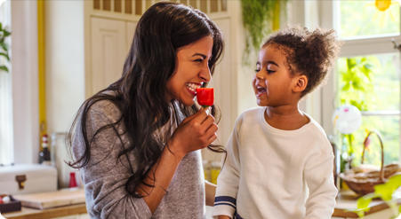
<path id="1" fill-rule="evenodd" d="M 182 121 L 168 140 L 169 149 L 179 158 L 205 148 L 217 138 L 218 126 L 214 123 L 211 107 L 201 109 Z"/>

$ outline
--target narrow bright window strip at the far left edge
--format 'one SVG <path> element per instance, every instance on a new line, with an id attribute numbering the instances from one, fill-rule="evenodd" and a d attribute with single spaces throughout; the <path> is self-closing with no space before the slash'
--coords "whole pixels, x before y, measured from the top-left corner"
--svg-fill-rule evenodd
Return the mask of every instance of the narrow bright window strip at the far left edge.
<path id="1" fill-rule="evenodd" d="M 11 31 L 11 1 L 0 1 L 0 22 Z M 11 36 L 6 38 L 11 54 Z M 0 70 L 0 165 L 10 165 L 13 162 L 12 150 L 12 66 L 3 56 L 0 56 L 0 66 L 7 66 L 9 72 Z"/>

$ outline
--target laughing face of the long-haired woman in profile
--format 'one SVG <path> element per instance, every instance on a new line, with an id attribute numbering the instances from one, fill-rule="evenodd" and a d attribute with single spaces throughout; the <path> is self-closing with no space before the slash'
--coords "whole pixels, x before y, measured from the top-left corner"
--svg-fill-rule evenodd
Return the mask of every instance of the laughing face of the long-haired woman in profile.
<path id="1" fill-rule="evenodd" d="M 185 106 L 195 103 L 196 88 L 212 79 L 209 59 L 212 56 L 213 37 L 205 36 L 195 43 L 181 47 L 172 78 L 167 82 L 167 98 Z"/>

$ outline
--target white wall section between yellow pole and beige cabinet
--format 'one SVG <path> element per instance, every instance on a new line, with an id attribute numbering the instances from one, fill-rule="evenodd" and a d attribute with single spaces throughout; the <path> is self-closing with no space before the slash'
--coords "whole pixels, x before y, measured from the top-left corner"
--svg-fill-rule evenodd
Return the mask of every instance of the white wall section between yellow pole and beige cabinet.
<path id="1" fill-rule="evenodd" d="M 84 3 L 44 1 L 47 130 L 67 132 L 84 102 Z"/>

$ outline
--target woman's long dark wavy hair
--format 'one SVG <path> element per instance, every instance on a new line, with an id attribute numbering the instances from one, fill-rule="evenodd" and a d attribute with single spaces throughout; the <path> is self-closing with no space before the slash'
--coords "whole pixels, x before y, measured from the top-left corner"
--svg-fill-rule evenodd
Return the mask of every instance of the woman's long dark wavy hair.
<path id="1" fill-rule="evenodd" d="M 136 171 L 132 170 L 132 176 L 125 187 L 133 197 L 139 198 L 135 187 L 143 182 L 148 168 L 156 163 L 162 153 L 160 139 L 154 135 L 155 131 L 172 118 L 172 113 L 175 113 L 175 118 L 180 118 L 178 113 L 188 117 L 197 111 L 195 105 L 184 106 L 176 100 L 166 100 L 166 83 L 172 78 L 177 51 L 208 35 L 213 36 L 213 51 L 209 60 L 209 68 L 213 74 L 214 66 L 223 50 L 221 29 L 205 13 L 192 7 L 172 2 L 153 4 L 137 24 L 131 49 L 124 62 L 122 77 L 107 89 L 88 98 L 80 107 L 69 129 L 68 145 L 71 149 L 74 133 L 81 132 L 84 137 L 84 154 L 70 161 L 68 165 L 83 168 L 88 164 L 92 141 L 102 130 L 114 129 L 124 145 L 121 133 L 118 134 L 116 130 L 122 122 L 125 128 L 123 135 L 129 137 L 129 145 L 123 147 L 119 157 L 132 151 L 136 154 Z M 115 123 L 101 127 L 88 139 L 86 118 L 90 107 L 101 100 L 111 101 L 122 114 Z M 213 107 L 212 114 L 220 116 L 216 107 Z M 76 127 L 77 124 L 80 125 Z M 164 143 L 170 134 L 170 129 L 163 133 Z M 213 152 L 224 152 L 220 145 L 209 145 L 208 148 Z"/>

